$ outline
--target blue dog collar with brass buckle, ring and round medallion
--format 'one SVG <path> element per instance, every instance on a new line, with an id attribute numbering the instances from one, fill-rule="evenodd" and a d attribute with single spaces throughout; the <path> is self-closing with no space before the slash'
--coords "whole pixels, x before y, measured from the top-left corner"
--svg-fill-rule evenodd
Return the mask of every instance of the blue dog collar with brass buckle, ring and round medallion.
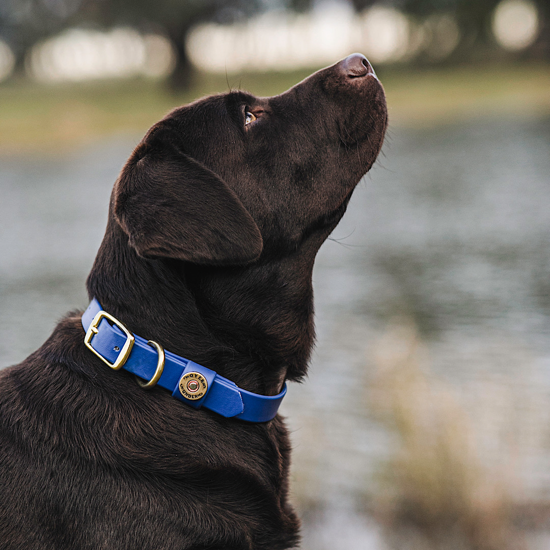
<path id="1" fill-rule="evenodd" d="M 202 365 L 164 351 L 152 340 L 145 340 L 112 315 L 103 311 L 94 298 L 82 315 L 86 331 L 84 343 L 113 370 L 124 368 L 145 381 L 142 388 L 156 384 L 172 392 L 172 397 L 195 409 L 204 407 L 227 417 L 248 422 L 273 419 L 287 384 L 278 395 L 260 395 L 239 388 L 237 384 Z"/>

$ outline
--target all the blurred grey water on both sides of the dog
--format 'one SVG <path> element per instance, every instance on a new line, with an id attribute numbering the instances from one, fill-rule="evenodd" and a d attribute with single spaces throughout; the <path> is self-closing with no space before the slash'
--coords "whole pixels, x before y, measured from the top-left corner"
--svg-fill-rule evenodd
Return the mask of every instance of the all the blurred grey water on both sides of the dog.
<path id="1" fill-rule="evenodd" d="M 134 145 L 1 160 L 0 366 L 85 307 L 109 193 Z M 340 548 L 342 526 L 342 548 L 384 548 L 352 511 L 376 496 L 395 448 L 368 393 L 395 316 L 415 324 L 430 375 L 471 416 L 483 463 L 510 472 L 522 499 L 550 498 L 549 153 L 550 119 L 390 130 L 318 255 L 318 345 L 282 406 L 294 498 L 321 510 L 306 514 L 304 548 Z"/>

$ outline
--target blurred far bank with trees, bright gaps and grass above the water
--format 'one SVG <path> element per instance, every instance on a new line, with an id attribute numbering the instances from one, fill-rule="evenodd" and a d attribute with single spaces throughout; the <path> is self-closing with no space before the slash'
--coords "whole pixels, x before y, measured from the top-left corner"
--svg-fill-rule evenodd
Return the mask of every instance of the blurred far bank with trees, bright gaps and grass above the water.
<path id="1" fill-rule="evenodd" d="M 0 151 L 139 133 L 177 103 L 228 86 L 274 94 L 353 51 L 376 65 L 398 124 L 547 111 L 549 5 L 4 0 Z"/>

